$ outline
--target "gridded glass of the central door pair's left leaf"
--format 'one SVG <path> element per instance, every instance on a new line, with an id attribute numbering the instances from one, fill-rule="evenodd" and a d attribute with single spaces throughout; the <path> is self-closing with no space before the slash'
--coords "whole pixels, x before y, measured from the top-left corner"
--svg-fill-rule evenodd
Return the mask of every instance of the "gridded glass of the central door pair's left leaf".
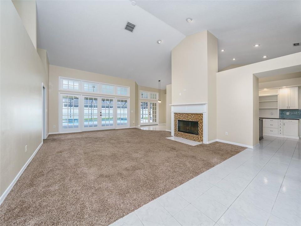
<path id="1" fill-rule="evenodd" d="M 84 97 L 84 127 L 98 126 L 97 97 Z"/>

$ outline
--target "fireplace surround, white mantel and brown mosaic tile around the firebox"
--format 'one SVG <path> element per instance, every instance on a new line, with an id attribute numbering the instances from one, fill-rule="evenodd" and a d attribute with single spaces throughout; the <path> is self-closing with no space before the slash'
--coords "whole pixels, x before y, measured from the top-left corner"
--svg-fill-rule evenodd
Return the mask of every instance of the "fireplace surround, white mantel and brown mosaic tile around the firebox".
<path id="1" fill-rule="evenodd" d="M 184 113 L 184 114 L 176 114 L 175 120 L 175 113 Z M 186 114 L 185 114 L 186 113 Z M 188 113 L 188 114 L 187 114 Z M 196 114 L 202 114 L 198 116 Z M 178 117 L 181 118 L 178 118 Z M 187 119 L 185 119 L 187 117 Z M 192 120 L 192 118 L 195 118 Z M 188 121 L 198 121 L 198 123 L 202 122 L 203 125 L 199 125 L 199 130 L 203 129 L 202 131 L 198 131 L 199 135 L 192 135 L 188 133 L 182 133 L 175 131 L 177 130 L 177 120 L 188 120 Z M 176 124 L 176 125 L 175 125 Z M 173 137 L 181 137 L 181 139 L 185 138 L 188 140 L 192 140 L 198 143 L 208 143 L 207 138 L 207 103 L 193 103 L 193 104 L 171 104 L 171 133 Z M 202 142 L 200 142 L 200 137 L 202 138 Z M 177 139 L 180 140 L 180 139 Z"/>

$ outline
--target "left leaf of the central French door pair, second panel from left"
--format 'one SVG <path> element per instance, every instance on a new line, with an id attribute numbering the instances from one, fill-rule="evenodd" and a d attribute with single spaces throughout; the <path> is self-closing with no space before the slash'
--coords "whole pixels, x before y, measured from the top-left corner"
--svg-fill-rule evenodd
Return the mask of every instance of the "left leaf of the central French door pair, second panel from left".
<path id="1" fill-rule="evenodd" d="M 83 96 L 83 131 L 99 130 L 99 115 L 98 107 L 99 98 L 92 96 Z"/>

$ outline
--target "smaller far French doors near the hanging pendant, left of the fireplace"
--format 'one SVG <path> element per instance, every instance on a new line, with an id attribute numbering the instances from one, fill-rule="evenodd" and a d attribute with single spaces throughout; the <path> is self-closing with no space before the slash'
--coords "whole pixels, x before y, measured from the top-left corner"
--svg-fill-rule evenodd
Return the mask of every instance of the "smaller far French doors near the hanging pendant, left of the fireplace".
<path id="1" fill-rule="evenodd" d="M 158 124 L 158 103 L 140 101 L 140 126 Z"/>

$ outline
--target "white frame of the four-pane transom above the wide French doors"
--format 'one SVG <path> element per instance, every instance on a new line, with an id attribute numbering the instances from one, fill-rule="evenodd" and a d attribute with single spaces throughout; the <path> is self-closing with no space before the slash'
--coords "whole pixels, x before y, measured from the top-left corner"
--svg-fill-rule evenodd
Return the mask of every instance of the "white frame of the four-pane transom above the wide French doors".
<path id="1" fill-rule="evenodd" d="M 63 89 L 63 79 L 79 82 L 79 90 Z M 85 91 L 84 90 L 84 83 L 85 82 L 86 83 L 93 83 L 95 85 L 98 85 L 98 92 Z M 114 87 L 114 93 L 113 94 L 103 93 L 102 92 L 102 85 L 113 86 Z M 128 89 L 128 94 L 127 95 L 117 94 L 117 87 L 127 88 Z M 68 78 L 68 77 L 62 77 L 62 76 L 59 77 L 59 91 L 62 91 L 62 92 L 72 91 L 72 92 L 77 92 L 77 93 L 101 94 L 101 95 L 120 96 L 120 97 L 129 97 L 130 96 L 130 87 L 129 86 L 116 85 L 116 84 L 103 83 L 103 82 L 95 82 L 95 81 L 88 81 L 88 80 L 83 80 L 83 79 L 74 79 L 74 78 Z"/>

